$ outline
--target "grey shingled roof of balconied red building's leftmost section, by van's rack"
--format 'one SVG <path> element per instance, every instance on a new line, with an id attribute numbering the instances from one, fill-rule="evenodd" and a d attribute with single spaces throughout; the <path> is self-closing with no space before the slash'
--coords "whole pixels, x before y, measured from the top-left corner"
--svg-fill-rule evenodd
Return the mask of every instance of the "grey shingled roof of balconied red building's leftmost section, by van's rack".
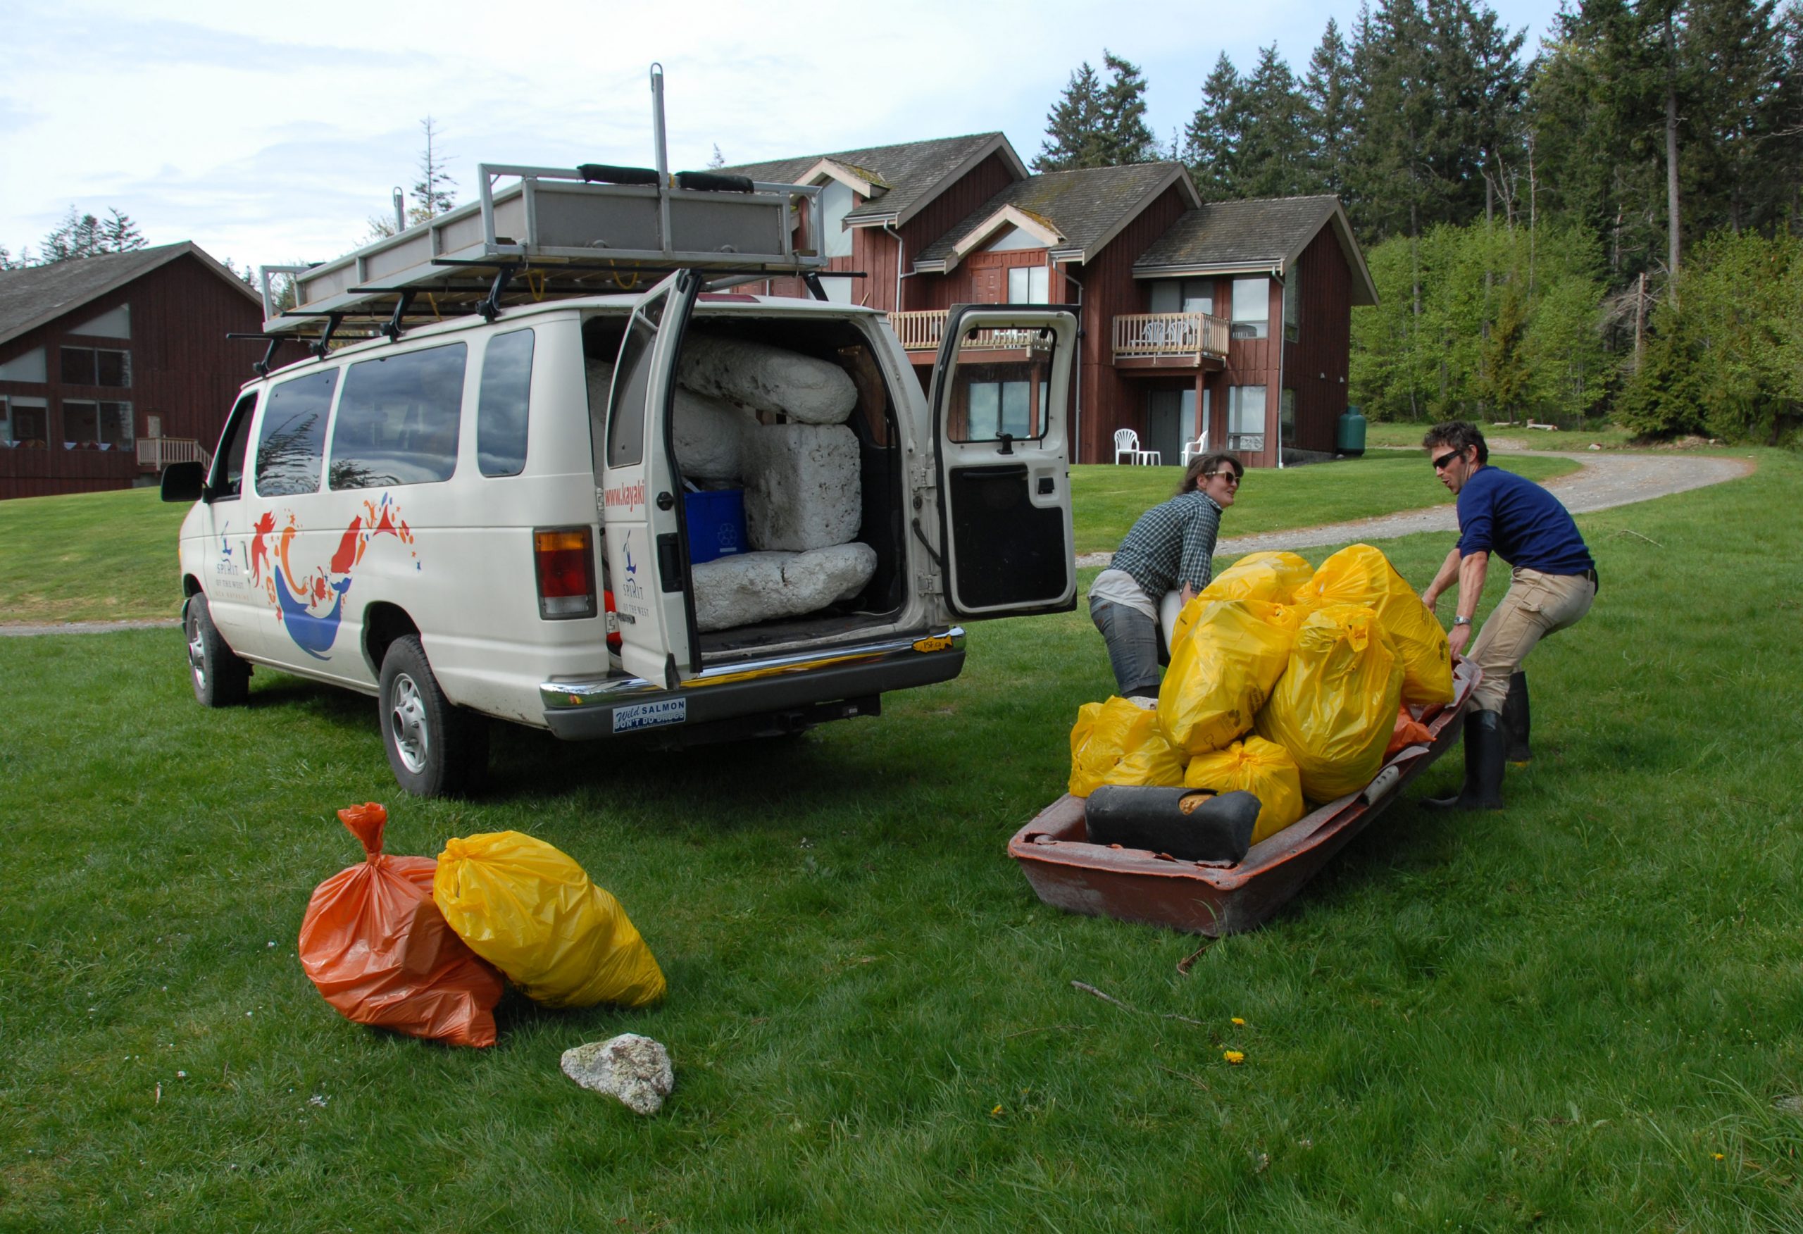
<path id="1" fill-rule="evenodd" d="M 824 155 L 741 162 L 721 168 L 721 171 L 748 175 L 754 180 L 801 184 L 802 177 L 810 173 L 826 171 L 831 175 L 833 168 L 820 168 L 822 162 L 831 162 L 858 180 L 869 182 L 873 189 L 869 200 L 860 202 L 846 215 L 847 226 L 880 227 L 887 224 L 898 227 L 950 188 L 957 177 L 997 152 L 1013 175 L 1026 175 L 1026 164 L 1020 162 L 1020 155 L 1008 144 L 1004 134 L 934 137 L 930 141 L 905 141 L 896 146 L 865 146 L 864 150 L 840 150 Z"/>

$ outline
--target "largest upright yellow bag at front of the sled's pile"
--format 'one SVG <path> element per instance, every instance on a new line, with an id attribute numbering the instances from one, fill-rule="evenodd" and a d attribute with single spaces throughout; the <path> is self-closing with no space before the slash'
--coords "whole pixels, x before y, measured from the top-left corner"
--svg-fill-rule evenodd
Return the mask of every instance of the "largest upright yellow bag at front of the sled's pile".
<path id="1" fill-rule="evenodd" d="M 1377 613 L 1329 604 L 1302 622 L 1289 668 L 1258 713 L 1258 736 L 1289 751 L 1311 801 L 1332 801 L 1383 767 L 1401 695 L 1403 664 Z"/>

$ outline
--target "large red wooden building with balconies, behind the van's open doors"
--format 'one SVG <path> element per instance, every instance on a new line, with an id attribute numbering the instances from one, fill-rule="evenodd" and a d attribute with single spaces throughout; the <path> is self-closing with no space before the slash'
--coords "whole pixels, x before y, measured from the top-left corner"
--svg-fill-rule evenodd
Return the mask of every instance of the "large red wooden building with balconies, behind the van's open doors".
<path id="1" fill-rule="evenodd" d="M 802 244 L 864 274 L 828 294 L 887 310 L 923 381 L 954 303 L 1080 305 L 1076 462 L 1112 462 L 1116 429 L 1167 464 L 1204 435 L 1251 465 L 1334 447 L 1377 292 L 1332 197 L 1204 206 L 1177 162 L 1030 175 L 1002 134 L 728 170 L 826 188 Z"/>

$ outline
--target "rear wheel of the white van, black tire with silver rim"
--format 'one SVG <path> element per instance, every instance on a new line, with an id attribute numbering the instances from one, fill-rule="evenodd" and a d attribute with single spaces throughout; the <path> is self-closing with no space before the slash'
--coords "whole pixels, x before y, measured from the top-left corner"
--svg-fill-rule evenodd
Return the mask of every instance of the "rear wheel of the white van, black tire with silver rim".
<path id="1" fill-rule="evenodd" d="M 481 787 L 489 723 L 451 705 L 416 635 L 388 646 L 379 698 L 382 749 L 402 788 L 418 797 L 454 797 Z"/>

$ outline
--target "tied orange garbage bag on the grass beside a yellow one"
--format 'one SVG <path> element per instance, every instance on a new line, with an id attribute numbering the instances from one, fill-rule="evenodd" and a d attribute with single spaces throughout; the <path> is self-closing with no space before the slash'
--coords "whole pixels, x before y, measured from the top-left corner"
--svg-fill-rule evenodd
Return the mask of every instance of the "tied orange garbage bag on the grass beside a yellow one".
<path id="1" fill-rule="evenodd" d="M 388 857 L 388 810 L 339 810 L 364 861 L 317 888 L 301 920 L 301 967 L 346 1019 L 451 1045 L 494 1045 L 501 974 L 433 904 L 431 857 Z"/>

